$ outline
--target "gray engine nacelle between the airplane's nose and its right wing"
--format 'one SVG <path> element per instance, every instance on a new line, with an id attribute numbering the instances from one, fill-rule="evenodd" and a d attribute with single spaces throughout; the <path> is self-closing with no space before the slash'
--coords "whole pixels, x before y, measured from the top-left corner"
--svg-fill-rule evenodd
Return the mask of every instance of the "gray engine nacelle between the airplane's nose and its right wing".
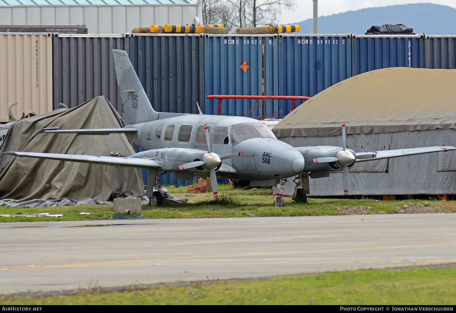
<path id="1" fill-rule="evenodd" d="M 344 150 L 342 147 L 334 146 L 309 146 L 296 149 L 304 156 L 304 172 L 337 172 L 341 171 L 343 166 L 347 166 L 350 169 L 355 165 L 355 160 L 349 164 L 350 154 L 355 154 L 352 149 Z M 346 152 L 349 152 L 349 154 Z M 323 157 L 338 157 L 340 161 L 329 163 L 312 162 L 312 159 Z"/>

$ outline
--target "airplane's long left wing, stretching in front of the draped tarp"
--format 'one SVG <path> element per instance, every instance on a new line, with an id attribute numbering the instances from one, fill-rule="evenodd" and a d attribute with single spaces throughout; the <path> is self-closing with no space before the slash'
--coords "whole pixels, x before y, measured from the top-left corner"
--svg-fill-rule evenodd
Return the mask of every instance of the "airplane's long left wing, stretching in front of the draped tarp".
<path id="1" fill-rule="evenodd" d="M 99 155 L 76 155 L 76 154 L 56 154 L 56 153 L 36 153 L 36 152 L 3 152 L 17 157 L 28 157 L 36 159 L 50 159 L 58 161 L 72 161 L 79 163 L 103 164 L 112 166 L 133 167 L 137 169 L 163 169 L 163 163 L 146 158 L 123 158 L 108 157 Z"/>

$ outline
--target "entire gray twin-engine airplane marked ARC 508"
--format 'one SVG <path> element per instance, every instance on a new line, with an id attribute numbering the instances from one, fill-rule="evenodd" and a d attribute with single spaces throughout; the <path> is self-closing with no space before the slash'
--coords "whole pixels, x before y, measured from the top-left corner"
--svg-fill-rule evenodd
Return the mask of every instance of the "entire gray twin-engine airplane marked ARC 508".
<path id="1" fill-rule="evenodd" d="M 218 178 L 249 181 L 250 186 L 275 185 L 280 198 L 285 178 L 298 176 L 296 196 L 306 200 L 308 173 L 325 177 L 342 170 L 344 193 L 348 194 L 348 169 L 355 162 L 387 159 L 412 154 L 454 150 L 455 147 L 425 147 L 355 153 L 346 149 L 345 124 L 342 125 L 342 147 L 292 147 L 275 138 L 274 133 L 254 118 L 186 113 L 156 112 L 137 77 L 125 51 L 113 50 L 117 82 L 123 103 L 124 128 L 56 129 L 44 133 L 78 133 L 108 135 L 125 133 L 145 151 L 128 157 L 5 152 L 19 157 L 65 160 L 148 169 L 146 195 L 150 203 L 163 204 L 158 187 L 160 171 L 175 172 L 177 179 L 193 176 L 210 177 L 214 196 L 218 195 Z M 198 107 L 199 109 L 199 107 Z M 304 190 L 300 187 L 303 187 Z"/>

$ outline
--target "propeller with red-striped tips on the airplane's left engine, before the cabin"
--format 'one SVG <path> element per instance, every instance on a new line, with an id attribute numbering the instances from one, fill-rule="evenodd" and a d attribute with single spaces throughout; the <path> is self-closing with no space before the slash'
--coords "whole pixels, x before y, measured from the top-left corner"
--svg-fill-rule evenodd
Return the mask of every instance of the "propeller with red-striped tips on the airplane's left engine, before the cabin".
<path id="1" fill-rule="evenodd" d="M 209 144 L 209 130 L 207 129 L 207 124 L 204 124 L 204 133 L 206 135 L 206 144 L 207 144 L 207 153 L 203 154 L 201 161 L 193 161 L 186 164 L 182 164 L 179 166 L 179 169 L 191 169 L 197 166 L 204 166 L 206 169 L 209 169 L 209 175 L 211 177 L 211 186 L 212 192 L 214 193 L 214 197 L 218 196 L 217 190 L 217 177 L 215 174 L 215 169 L 217 169 L 220 164 L 222 164 L 222 160 L 226 159 L 233 159 L 243 155 L 243 152 L 235 152 L 230 154 L 225 154 L 219 156 L 216 153 L 211 152 L 211 147 Z"/>

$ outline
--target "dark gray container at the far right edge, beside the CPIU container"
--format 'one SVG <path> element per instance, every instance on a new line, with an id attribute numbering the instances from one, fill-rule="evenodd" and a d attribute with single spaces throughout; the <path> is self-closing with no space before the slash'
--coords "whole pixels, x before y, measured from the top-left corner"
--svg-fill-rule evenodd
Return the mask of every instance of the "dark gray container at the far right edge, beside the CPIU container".
<path id="1" fill-rule="evenodd" d="M 425 36 L 425 68 L 456 68 L 456 36 Z"/>

